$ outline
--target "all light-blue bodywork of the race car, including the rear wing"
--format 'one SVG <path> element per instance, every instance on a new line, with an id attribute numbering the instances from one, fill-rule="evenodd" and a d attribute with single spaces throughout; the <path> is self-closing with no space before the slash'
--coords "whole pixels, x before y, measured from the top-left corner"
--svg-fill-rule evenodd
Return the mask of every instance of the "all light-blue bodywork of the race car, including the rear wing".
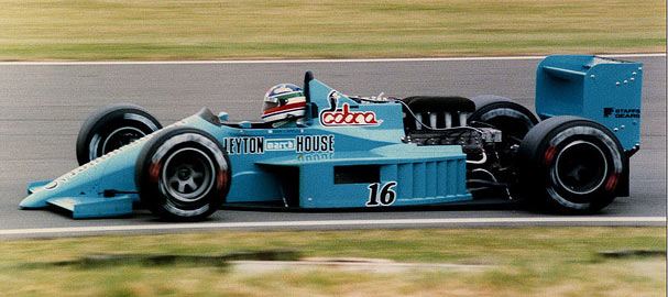
<path id="1" fill-rule="evenodd" d="M 601 121 L 625 150 L 634 150 L 639 144 L 640 84 L 642 64 L 550 56 L 537 72 L 536 110 L 541 118 L 574 114 Z M 164 129 L 190 127 L 221 143 L 231 164 L 230 205 L 317 209 L 472 201 L 462 147 L 406 141 L 401 102 L 353 100 L 310 73 L 304 89 L 306 116 L 281 127 L 223 122 L 227 113 L 216 117 L 202 109 Z M 631 116 L 610 117 L 617 113 Z M 20 206 L 55 206 L 74 218 L 131 213 L 132 204 L 140 201 L 138 157 L 158 133 L 54 180 L 32 183 Z"/>

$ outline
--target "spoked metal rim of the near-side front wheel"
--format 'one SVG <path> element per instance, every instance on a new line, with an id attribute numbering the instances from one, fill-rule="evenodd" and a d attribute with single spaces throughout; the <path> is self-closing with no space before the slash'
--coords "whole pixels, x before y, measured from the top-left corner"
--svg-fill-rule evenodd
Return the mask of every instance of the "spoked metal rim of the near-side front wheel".
<path id="1" fill-rule="evenodd" d="M 202 151 L 185 147 L 174 152 L 163 167 L 162 180 L 169 197 L 193 202 L 205 197 L 213 187 L 213 162 Z"/>

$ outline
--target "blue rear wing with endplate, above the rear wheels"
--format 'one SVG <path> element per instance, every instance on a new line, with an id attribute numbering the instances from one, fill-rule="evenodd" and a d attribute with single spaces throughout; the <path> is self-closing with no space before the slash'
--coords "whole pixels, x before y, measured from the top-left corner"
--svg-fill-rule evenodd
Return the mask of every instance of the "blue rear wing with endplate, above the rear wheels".
<path id="1" fill-rule="evenodd" d="M 536 74 L 541 119 L 578 116 L 607 127 L 625 151 L 640 143 L 643 64 L 591 55 L 546 57 Z"/>

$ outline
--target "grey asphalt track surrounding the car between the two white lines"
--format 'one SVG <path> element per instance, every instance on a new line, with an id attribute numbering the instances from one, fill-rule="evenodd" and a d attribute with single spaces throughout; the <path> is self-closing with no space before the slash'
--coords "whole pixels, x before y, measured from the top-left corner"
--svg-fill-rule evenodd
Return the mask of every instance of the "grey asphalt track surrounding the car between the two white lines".
<path id="1" fill-rule="evenodd" d="M 300 85 L 304 72 L 313 70 L 316 78 L 344 94 L 493 94 L 533 109 L 540 58 L 0 63 L 0 239 L 204 229 L 665 226 L 666 56 L 623 58 L 645 64 L 642 148 L 631 162 L 631 197 L 616 199 L 598 216 L 556 217 L 496 207 L 371 212 L 221 210 L 206 222 L 189 224 L 162 222 L 145 210 L 125 218 L 73 220 L 51 211 L 22 211 L 18 205 L 28 183 L 76 167 L 79 125 L 105 105 L 143 106 L 163 124 L 201 107 L 227 111 L 230 120 L 258 119 L 269 87 Z"/>

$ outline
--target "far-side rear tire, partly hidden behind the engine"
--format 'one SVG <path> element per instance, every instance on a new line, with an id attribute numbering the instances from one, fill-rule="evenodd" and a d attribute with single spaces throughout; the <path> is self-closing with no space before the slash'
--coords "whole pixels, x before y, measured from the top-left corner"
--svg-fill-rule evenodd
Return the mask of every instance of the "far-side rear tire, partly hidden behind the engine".
<path id="1" fill-rule="evenodd" d="M 475 111 L 469 117 L 469 124 L 501 130 L 505 146 L 510 146 L 510 143 L 518 144 L 538 123 L 538 118 L 530 110 L 512 99 L 485 95 L 471 100 L 475 103 Z"/>

